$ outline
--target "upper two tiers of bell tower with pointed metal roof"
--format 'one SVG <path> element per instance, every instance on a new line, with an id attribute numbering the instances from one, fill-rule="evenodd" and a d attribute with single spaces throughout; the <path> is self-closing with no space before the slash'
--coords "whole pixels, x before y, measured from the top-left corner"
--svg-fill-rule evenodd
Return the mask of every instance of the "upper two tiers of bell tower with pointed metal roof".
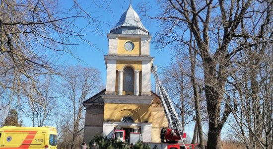
<path id="1" fill-rule="evenodd" d="M 109 52 L 104 56 L 107 68 L 105 94 L 151 95 L 151 35 L 131 4 L 107 38 Z"/>

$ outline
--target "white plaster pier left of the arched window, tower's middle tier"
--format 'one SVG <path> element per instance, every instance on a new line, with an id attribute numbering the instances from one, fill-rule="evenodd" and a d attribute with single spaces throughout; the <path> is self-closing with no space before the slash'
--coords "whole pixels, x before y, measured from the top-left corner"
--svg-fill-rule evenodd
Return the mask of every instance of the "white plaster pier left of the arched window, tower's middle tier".
<path id="1" fill-rule="evenodd" d="M 107 61 L 106 95 L 115 95 L 116 89 L 116 60 Z"/>

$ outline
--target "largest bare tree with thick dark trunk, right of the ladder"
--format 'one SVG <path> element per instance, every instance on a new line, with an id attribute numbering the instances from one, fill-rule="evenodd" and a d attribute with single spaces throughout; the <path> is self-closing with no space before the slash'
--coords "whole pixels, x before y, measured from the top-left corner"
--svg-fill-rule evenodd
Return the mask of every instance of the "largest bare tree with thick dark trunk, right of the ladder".
<path id="1" fill-rule="evenodd" d="M 192 48 L 202 60 L 201 68 L 205 82 L 207 148 L 221 149 L 221 130 L 232 109 L 236 109 L 236 99 L 231 98 L 225 88 L 227 68 L 231 64 L 231 58 L 248 46 L 244 42 L 238 45 L 237 39 L 249 38 L 252 30 L 263 32 L 263 20 L 266 18 L 262 16 L 272 10 L 272 1 L 159 0 L 158 3 L 162 11 L 159 16 L 151 18 L 162 23 L 162 31 L 156 40 L 162 43 L 163 47 L 176 42 L 192 47 L 189 42 L 190 31 L 193 34 L 197 47 Z M 257 17 L 253 22 L 258 26 L 253 26 L 251 32 L 242 35 L 240 24 L 253 19 L 254 14 L 257 14 Z"/>

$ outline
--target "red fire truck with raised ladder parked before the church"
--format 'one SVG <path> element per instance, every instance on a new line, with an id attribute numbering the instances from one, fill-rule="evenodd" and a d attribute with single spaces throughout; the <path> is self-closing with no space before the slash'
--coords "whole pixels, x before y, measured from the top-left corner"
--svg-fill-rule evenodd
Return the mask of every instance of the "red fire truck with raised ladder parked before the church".
<path id="1" fill-rule="evenodd" d="M 173 107 L 171 99 L 167 94 L 165 88 L 161 84 L 159 77 L 156 73 L 156 67 L 151 67 L 151 72 L 154 75 L 161 104 L 166 114 L 169 128 L 166 129 L 164 139 L 166 143 L 148 143 L 151 148 L 157 147 L 158 149 L 194 149 L 194 145 L 185 144 L 186 133 L 184 133 L 180 120 Z M 125 130 L 115 130 L 113 134 L 114 140 L 125 141 Z M 141 140 L 140 133 L 130 133 L 130 143 L 136 143 Z M 179 142 L 179 143 L 178 143 Z"/>

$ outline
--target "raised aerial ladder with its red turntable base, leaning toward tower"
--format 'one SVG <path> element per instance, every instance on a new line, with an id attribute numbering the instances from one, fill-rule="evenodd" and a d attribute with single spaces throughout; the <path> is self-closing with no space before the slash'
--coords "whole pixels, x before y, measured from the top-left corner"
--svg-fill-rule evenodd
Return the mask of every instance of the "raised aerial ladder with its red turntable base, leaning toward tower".
<path id="1" fill-rule="evenodd" d="M 169 130 L 167 130 L 166 134 L 165 134 L 165 139 L 166 141 L 182 141 L 182 144 L 184 144 L 184 140 L 185 138 L 183 138 L 184 135 L 184 131 L 183 131 L 183 127 L 180 123 L 180 120 L 177 116 L 177 113 L 174 109 L 174 106 L 172 104 L 172 101 L 169 97 L 169 95 L 167 94 L 165 88 L 163 87 L 163 85 L 161 84 L 161 81 L 159 80 L 159 77 L 157 75 L 156 72 L 156 66 L 152 66 L 151 67 L 151 72 L 154 75 L 155 78 L 155 82 L 157 84 L 158 87 L 158 92 L 159 92 L 159 96 L 160 96 L 160 100 L 161 100 L 161 104 L 163 106 L 164 112 L 166 114 L 168 123 L 169 123 Z M 171 132 L 168 132 L 171 131 Z M 171 133 L 171 134 L 168 134 Z M 184 144 L 185 146 L 185 144 Z"/>

